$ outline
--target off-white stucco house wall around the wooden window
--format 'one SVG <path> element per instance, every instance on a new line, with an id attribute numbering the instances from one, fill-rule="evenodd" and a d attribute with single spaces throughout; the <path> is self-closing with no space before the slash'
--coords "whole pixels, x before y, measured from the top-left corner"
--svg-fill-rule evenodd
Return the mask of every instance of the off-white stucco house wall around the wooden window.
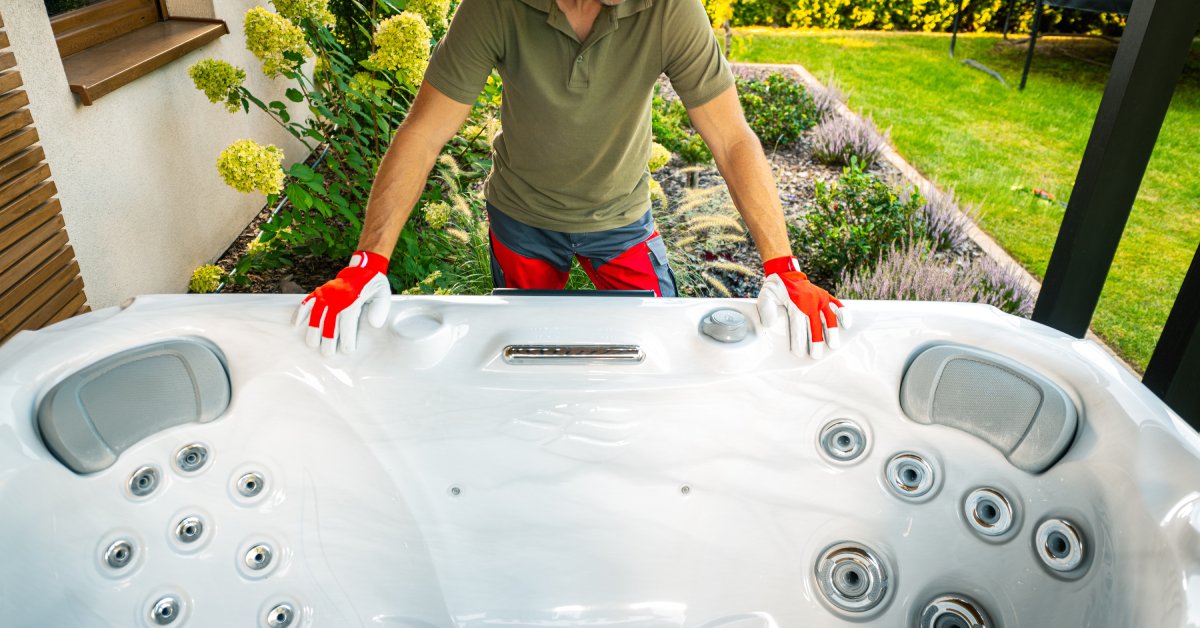
<path id="1" fill-rule="evenodd" d="M 221 180 L 216 159 L 232 142 L 275 144 L 287 163 L 304 159 L 304 145 L 265 113 L 230 114 L 187 77 L 187 66 L 214 56 L 245 68 L 247 86 L 263 101 L 286 100 L 286 80 L 266 79 L 246 52 L 241 20 L 258 4 L 188 0 L 200 13 L 210 6 L 229 35 L 84 107 L 67 86 L 44 2 L 0 0 L 92 309 L 186 291 L 192 270 L 216 259 L 245 228 L 265 197 Z M 293 106 L 294 118 L 302 112 Z"/>

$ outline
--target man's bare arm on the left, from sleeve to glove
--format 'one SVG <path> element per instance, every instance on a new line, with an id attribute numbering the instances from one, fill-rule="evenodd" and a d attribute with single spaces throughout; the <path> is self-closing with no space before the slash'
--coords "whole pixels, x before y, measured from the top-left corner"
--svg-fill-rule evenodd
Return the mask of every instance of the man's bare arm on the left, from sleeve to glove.
<path id="1" fill-rule="evenodd" d="M 359 251 L 391 257 L 433 163 L 442 148 L 467 120 L 470 107 L 442 94 L 428 82 L 421 83 L 416 100 L 392 137 L 371 186 Z"/>

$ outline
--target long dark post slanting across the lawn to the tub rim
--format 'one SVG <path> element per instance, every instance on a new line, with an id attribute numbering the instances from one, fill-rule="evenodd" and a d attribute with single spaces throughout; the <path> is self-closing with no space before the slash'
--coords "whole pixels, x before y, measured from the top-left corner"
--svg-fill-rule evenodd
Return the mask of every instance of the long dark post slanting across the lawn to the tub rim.
<path id="1" fill-rule="evenodd" d="M 1033 319 L 1084 337 L 1200 26 L 1195 0 L 1136 0 L 1079 165 Z"/>

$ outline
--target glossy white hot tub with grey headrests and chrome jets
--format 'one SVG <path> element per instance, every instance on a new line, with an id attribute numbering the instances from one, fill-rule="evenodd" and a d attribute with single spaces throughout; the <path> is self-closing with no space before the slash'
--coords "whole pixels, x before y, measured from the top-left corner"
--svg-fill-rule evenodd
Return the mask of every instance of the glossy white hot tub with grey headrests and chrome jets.
<path id="1" fill-rule="evenodd" d="M 1200 441 L 1088 341 L 412 297 L 326 359 L 294 305 L 0 347 L 0 626 L 1200 626 Z"/>

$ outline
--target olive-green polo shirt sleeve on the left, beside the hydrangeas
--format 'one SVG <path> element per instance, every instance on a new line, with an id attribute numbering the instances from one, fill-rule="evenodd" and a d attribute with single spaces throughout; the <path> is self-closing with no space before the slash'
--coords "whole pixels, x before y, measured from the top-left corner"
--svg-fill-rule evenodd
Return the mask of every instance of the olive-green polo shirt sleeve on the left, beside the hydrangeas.
<path id="1" fill-rule="evenodd" d="M 463 104 L 474 104 L 503 55 L 499 4 L 496 0 L 462 0 L 450 28 L 430 56 L 425 79 Z"/>

